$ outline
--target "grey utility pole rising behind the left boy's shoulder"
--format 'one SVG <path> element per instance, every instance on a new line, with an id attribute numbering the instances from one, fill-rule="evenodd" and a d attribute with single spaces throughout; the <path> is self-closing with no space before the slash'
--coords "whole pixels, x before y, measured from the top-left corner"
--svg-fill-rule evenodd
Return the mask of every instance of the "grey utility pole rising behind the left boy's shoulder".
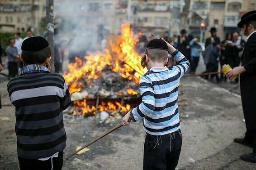
<path id="1" fill-rule="evenodd" d="M 52 59 L 50 61 L 51 72 L 55 72 L 54 67 L 54 23 L 53 23 L 53 0 L 46 0 L 46 40 L 49 42 L 52 52 Z"/>

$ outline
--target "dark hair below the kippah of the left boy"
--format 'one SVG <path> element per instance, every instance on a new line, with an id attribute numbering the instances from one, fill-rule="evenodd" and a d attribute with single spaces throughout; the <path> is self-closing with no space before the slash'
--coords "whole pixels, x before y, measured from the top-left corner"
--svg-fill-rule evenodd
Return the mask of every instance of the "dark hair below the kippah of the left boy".
<path id="1" fill-rule="evenodd" d="M 46 49 L 30 52 L 22 51 L 23 61 L 27 64 L 43 64 L 48 57 L 51 56 L 51 49 L 47 47 Z"/>

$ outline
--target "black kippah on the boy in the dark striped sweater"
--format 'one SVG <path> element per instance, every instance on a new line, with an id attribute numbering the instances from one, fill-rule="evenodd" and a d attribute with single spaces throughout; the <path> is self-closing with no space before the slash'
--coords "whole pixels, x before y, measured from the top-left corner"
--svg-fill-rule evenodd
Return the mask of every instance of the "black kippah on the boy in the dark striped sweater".
<path id="1" fill-rule="evenodd" d="M 24 52 L 38 52 L 48 47 L 48 41 L 42 36 L 33 36 L 23 41 L 21 50 Z"/>

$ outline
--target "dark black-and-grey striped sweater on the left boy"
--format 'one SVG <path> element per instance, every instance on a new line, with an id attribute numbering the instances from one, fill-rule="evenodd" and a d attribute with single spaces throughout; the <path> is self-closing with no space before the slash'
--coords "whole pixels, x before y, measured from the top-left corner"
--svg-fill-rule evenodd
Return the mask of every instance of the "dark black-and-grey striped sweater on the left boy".
<path id="1" fill-rule="evenodd" d="M 62 111 L 70 104 L 64 78 L 47 67 L 29 65 L 7 86 L 15 106 L 18 156 L 39 159 L 62 152 L 66 147 Z"/>

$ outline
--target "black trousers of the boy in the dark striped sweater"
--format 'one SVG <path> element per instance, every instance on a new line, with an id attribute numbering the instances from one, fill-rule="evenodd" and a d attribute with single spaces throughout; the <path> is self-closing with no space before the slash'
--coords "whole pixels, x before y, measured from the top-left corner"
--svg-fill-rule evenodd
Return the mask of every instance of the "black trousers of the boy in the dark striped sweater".
<path id="1" fill-rule="evenodd" d="M 47 161 L 24 159 L 21 157 L 18 157 L 18 159 L 20 170 L 61 170 L 63 165 L 63 151 L 59 152 L 58 157 L 50 158 Z"/>

